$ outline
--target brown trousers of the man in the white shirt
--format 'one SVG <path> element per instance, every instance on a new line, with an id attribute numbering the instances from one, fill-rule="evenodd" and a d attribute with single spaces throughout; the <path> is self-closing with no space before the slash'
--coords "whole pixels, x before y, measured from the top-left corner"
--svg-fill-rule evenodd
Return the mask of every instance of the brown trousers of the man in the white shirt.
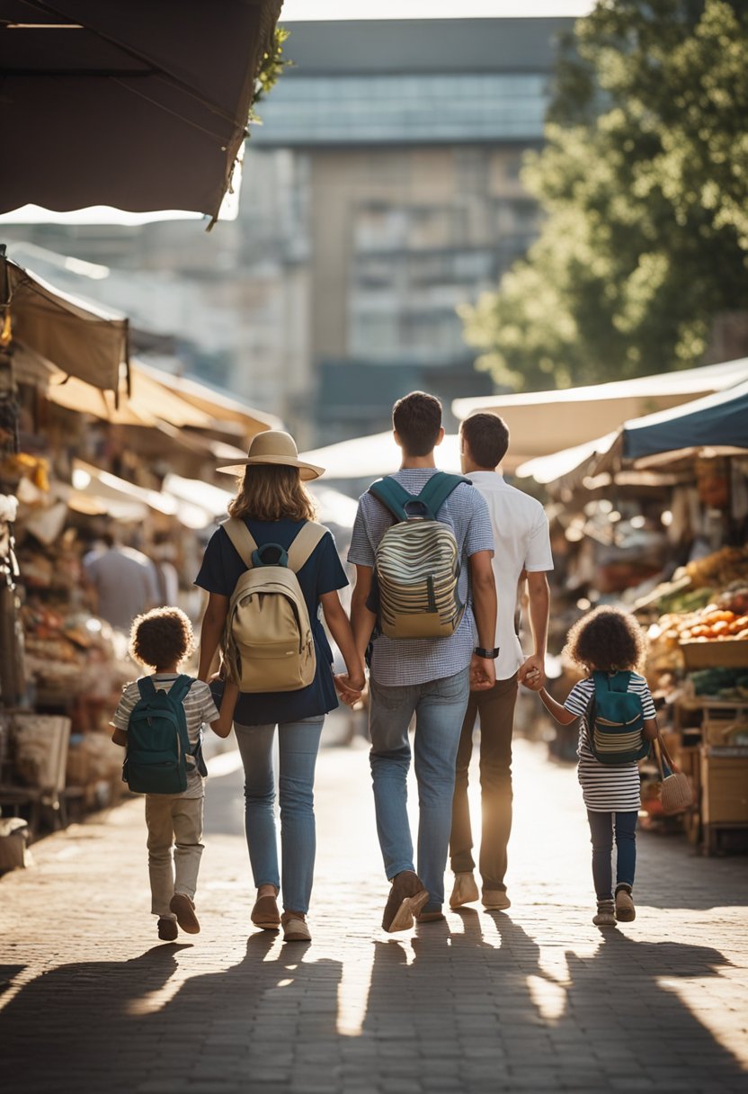
<path id="1" fill-rule="evenodd" d="M 505 889 L 506 845 L 512 831 L 512 730 L 517 675 L 496 680 L 489 691 L 471 691 L 457 749 L 452 803 L 451 864 L 455 873 L 475 870 L 468 805 L 472 731 L 480 715 L 480 792 L 482 830 L 479 869 L 484 889 Z"/>

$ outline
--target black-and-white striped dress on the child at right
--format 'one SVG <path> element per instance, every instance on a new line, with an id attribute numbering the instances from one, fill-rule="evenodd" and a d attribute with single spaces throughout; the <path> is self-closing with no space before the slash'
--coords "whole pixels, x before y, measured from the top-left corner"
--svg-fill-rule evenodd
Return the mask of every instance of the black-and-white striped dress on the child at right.
<path id="1" fill-rule="evenodd" d="M 647 683 L 643 676 L 631 673 L 629 691 L 642 700 L 644 718 L 654 718 L 655 709 Z M 589 750 L 587 740 L 587 707 L 595 695 L 595 682 L 592 676 L 575 684 L 566 697 L 564 707 L 572 714 L 581 718 L 580 743 L 576 755 L 580 757 L 577 777 L 582 787 L 584 804 L 593 813 L 633 813 L 641 806 L 639 764 L 619 764 L 615 767 L 600 764 Z"/>

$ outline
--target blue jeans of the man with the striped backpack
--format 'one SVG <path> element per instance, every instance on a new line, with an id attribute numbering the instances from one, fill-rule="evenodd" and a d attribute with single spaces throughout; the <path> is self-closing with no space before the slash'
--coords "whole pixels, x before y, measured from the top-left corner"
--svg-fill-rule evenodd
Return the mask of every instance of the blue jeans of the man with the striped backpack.
<path id="1" fill-rule="evenodd" d="M 370 760 L 374 783 L 376 829 L 387 877 L 413 869 L 413 842 L 408 823 L 408 726 L 416 715 L 418 780 L 418 874 L 429 889 L 426 911 L 444 903 L 452 798 L 457 746 L 467 708 L 470 676 L 464 668 L 425 684 L 386 687 L 370 682 Z"/>

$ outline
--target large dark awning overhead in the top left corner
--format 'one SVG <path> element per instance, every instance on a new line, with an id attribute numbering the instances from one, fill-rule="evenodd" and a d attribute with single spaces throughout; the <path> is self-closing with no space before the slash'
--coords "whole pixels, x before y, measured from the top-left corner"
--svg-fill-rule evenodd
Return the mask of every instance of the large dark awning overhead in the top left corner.
<path id="1" fill-rule="evenodd" d="M 217 217 L 281 0 L 0 0 L 0 212 Z"/>

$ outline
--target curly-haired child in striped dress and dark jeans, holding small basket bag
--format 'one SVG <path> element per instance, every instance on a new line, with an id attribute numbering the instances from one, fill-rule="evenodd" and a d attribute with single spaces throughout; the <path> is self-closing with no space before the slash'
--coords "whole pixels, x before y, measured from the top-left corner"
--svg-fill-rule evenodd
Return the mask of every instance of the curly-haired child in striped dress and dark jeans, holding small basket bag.
<path id="1" fill-rule="evenodd" d="M 636 760 L 604 764 L 594 754 L 593 729 L 588 724 L 588 712 L 596 694 L 593 674 L 605 674 L 608 680 L 617 674 L 628 674 L 628 687 L 621 687 L 626 679 L 618 677 L 617 689 L 638 696 L 643 715 L 642 736 L 644 741 L 653 741 L 657 736 L 654 703 L 646 680 L 635 671 L 644 660 L 644 638 L 635 619 L 617 608 L 595 608 L 574 624 L 566 638 L 564 654 L 587 676 L 574 685 L 565 702 L 557 702 L 545 687 L 534 685 L 531 678 L 524 682 L 530 690 L 538 691 L 548 712 L 561 725 L 570 725 L 581 719 L 577 776 L 592 837 L 593 881 L 597 896 L 597 912 L 593 922 L 597 927 L 615 927 L 617 920 L 631 922 L 636 916 L 632 889 L 641 796 Z M 611 864 L 613 835 L 617 849 L 615 894 Z"/>

